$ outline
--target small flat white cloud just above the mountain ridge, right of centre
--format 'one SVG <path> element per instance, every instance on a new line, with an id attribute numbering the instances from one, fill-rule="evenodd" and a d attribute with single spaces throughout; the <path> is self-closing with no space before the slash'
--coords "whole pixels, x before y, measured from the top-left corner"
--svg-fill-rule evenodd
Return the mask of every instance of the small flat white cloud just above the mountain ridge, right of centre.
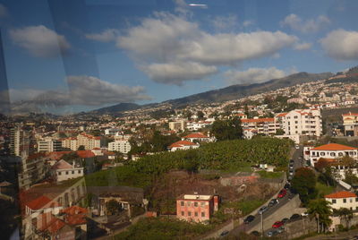
<path id="1" fill-rule="evenodd" d="M 225 73 L 229 84 L 260 83 L 271 79 L 282 78 L 286 73 L 276 67 L 249 68 L 246 71 L 229 70 Z"/>

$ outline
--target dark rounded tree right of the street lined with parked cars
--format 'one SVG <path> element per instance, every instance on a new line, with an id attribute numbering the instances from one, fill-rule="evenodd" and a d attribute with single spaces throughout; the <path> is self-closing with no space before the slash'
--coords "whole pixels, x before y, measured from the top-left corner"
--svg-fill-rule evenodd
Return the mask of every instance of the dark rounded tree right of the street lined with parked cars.
<path id="1" fill-rule="evenodd" d="M 295 192 L 300 194 L 303 205 L 307 205 L 311 199 L 317 196 L 316 176 L 308 167 L 298 168 L 292 179 L 292 187 Z"/>

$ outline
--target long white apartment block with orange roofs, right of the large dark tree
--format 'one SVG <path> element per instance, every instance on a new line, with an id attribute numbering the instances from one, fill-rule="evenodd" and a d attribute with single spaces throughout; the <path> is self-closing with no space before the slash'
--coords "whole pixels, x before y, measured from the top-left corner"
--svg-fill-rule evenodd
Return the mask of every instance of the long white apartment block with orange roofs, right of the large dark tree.
<path id="1" fill-rule="evenodd" d="M 258 134 L 273 135 L 280 129 L 280 124 L 274 117 L 242 119 L 243 131 L 256 130 Z"/>

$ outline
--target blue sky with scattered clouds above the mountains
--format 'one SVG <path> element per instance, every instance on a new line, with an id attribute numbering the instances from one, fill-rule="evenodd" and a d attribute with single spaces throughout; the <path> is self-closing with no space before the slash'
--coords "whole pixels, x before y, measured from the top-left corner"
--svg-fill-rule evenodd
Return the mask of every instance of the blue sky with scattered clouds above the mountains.
<path id="1" fill-rule="evenodd" d="M 146 104 L 358 62 L 347 0 L 0 0 L 0 112 Z"/>

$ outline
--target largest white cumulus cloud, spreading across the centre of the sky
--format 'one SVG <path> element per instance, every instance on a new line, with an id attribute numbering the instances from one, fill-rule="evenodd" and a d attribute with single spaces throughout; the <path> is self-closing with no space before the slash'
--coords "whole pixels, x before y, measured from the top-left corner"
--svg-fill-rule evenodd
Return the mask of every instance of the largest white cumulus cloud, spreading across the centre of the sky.
<path id="1" fill-rule="evenodd" d="M 217 73 L 219 65 L 273 56 L 297 40 L 282 31 L 210 34 L 200 30 L 195 22 L 169 13 L 156 13 L 155 17 L 127 30 L 116 45 L 126 50 L 152 80 L 182 84 Z M 159 73 L 162 69 L 166 72 Z"/>

